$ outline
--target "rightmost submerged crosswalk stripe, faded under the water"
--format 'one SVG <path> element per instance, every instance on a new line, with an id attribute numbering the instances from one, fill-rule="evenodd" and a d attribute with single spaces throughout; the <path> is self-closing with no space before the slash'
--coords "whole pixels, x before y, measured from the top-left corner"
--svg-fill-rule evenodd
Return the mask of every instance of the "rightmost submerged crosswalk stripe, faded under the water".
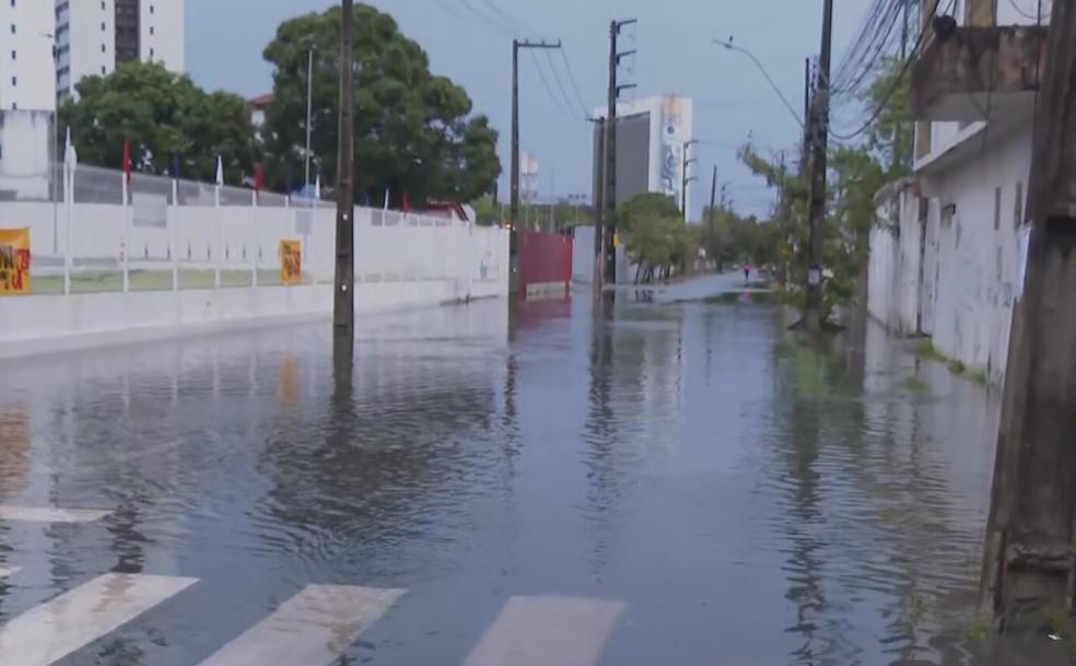
<path id="1" fill-rule="evenodd" d="M 624 608 L 597 599 L 512 597 L 466 666 L 594 666 Z"/>

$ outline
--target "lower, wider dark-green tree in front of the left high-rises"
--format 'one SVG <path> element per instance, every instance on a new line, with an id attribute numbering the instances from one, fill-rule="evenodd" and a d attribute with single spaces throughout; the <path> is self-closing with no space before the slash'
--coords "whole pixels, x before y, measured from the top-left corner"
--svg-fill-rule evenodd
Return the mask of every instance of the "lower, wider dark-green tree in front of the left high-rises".
<path id="1" fill-rule="evenodd" d="M 71 129 L 86 164 L 122 168 L 124 141 L 129 140 L 136 171 L 171 174 L 179 155 L 185 177 L 212 180 L 220 155 L 231 183 L 254 172 L 255 131 L 239 96 L 206 93 L 189 77 L 148 62 L 86 77 L 75 89 L 79 98 L 63 102 L 60 122 Z"/>

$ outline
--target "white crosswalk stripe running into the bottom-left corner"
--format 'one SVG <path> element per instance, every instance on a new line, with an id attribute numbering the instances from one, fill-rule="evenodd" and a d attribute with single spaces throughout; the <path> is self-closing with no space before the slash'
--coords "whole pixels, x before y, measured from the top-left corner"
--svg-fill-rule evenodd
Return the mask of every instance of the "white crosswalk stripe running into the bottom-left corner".
<path id="1" fill-rule="evenodd" d="M 196 579 L 106 574 L 0 629 L 0 666 L 48 666 L 115 631 Z"/>

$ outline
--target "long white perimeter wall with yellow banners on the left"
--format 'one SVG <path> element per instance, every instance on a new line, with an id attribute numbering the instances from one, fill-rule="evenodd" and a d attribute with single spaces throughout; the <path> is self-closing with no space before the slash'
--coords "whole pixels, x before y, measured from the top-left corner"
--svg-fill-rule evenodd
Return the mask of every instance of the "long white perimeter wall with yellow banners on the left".
<path id="1" fill-rule="evenodd" d="M 28 226 L 31 274 L 62 273 L 67 210 L 52 234 L 49 203 L 0 203 L 0 227 Z M 116 270 L 125 246 L 120 206 L 72 207 L 75 271 Z M 335 212 L 318 210 L 306 225 L 299 209 L 169 207 L 164 227 L 132 226 L 132 269 L 172 267 L 279 270 L 281 238 L 303 244 L 304 274 L 318 283 L 220 290 L 148 291 L 0 297 L 0 355 L 42 346 L 176 335 L 177 327 L 219 327 L 253 319 L 311 317 L 331 312 Z M 508 232 L 382 211 L 355 210 L 355 307 L 369 312 L 505 296 Z M 303 233 L 308 231 L 308 233 Z M 54 238 L 59 252 L 52 253 Z M 165 282 L 167 284 L 167 281 Z"/>

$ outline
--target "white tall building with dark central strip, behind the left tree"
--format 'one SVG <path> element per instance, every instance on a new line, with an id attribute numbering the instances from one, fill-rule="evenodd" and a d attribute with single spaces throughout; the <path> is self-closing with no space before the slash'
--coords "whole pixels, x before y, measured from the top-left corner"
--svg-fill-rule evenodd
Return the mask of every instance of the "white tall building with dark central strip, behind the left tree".
<path id="1" fill-rule="evenodd" d="M 185 71 L 184 3 L 56 0 L 57 98 L 75 94 L 74 86 L 84 77 L 107 75 L 131 60 Z"/>

